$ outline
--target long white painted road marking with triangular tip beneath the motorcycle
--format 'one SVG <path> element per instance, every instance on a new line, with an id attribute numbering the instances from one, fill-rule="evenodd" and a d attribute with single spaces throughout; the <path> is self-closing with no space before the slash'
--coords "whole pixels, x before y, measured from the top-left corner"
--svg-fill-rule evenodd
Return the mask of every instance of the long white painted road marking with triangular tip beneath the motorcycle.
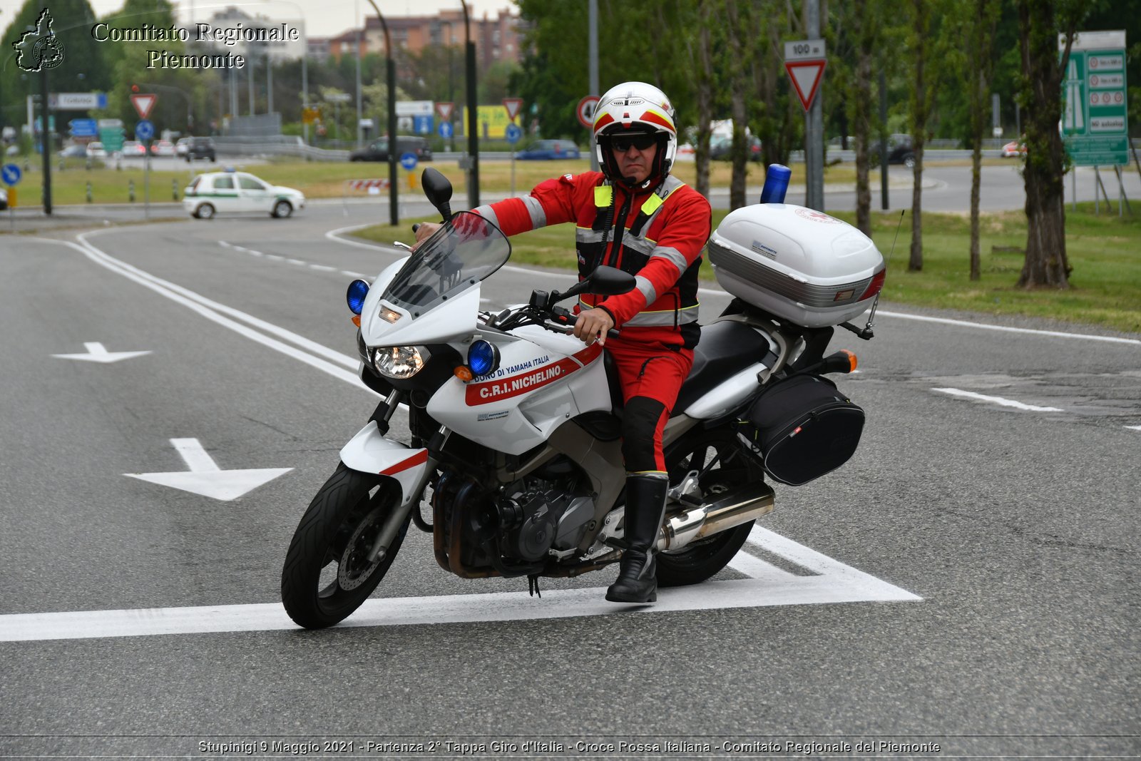
<path id="1" fill-rule="evenodd" d="M 366 600 L 340 626 L 462 624 L 671 613 L 834 602 L 919 602 L 923 598 L 845 566 L 770 531 L 754 527 L 748 541 L 815 575 L 799 576 L 742 551 L 730 564 L 750 578 L 662 589 L 653 606 L 607 602 L 606 589 L 552 589 L 542 598 L 526 592 L 442 594 Z M 0 616 L 0 641 L 201 634 L 297 629 L 280 602 L 140 610 L 78 610 Z"/>

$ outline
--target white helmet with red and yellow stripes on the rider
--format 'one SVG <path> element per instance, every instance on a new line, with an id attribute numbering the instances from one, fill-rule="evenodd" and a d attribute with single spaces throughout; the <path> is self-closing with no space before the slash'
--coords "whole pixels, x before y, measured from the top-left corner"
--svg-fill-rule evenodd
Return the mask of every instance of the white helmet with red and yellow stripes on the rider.
<path id="1" fill-rule="evenodd" d="M 678 151 L 678 128 L 673 123 L 673 105 L 665 94 L 646 82 L 623 82 L 612 87 L 594 107 L 594 151 L 598 165 L 612 181 L 618 175 L 610 138 L 615 135 L 650 133 L 658 138 L 657 156 L 649 179 L 661 183 L 673 167 Z"/>

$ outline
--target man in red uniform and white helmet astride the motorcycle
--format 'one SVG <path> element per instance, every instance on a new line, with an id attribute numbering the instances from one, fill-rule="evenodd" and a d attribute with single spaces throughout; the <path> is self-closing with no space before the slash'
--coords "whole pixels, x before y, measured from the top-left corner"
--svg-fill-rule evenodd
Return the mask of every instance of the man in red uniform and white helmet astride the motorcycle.
<path id="1" fill-rule="evenodd" d="M 645 82 L 612 88 L 594 108 L 593 133 L 601 172 L 564 175 L 529 196 L 474 211 L 505 235 L 575 222 L 580 278 L 599 265 L 634 275 L 629 293 L 582 294 L 574 334 L 610 353 L 624 399 L 626 548 L 606 599 L 650 602 L 657 599 L 654 552 L 669 487 L 662 430 L 699 337 L 697 269 L 711 211 L 704 196 L 670 175 L 678 130 L 662 90 Z M 421 225 L 416 241 L 437 227 Z M 621 333 L 607 341 L 612 327 Z"/>

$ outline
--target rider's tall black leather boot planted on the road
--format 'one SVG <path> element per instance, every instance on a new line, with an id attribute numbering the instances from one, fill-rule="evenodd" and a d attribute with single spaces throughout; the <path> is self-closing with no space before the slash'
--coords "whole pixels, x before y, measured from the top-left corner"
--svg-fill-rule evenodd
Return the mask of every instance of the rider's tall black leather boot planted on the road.
<path id="1" fill-rule="evenodd" d="M 618 561 L 618 578 L 606 590 L 610 602 L 657 600 L 655 544 L 665 517 L 665 492 L 670 481 L 649 476 L 626 477 L 626 513 L 623 537 L 626 549 Z"/>

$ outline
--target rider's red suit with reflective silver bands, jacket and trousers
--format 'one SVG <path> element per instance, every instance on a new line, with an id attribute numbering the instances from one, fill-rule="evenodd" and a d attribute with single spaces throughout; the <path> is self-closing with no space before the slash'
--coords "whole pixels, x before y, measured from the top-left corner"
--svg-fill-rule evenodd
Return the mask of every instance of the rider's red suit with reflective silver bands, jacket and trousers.
<path id="1" fill-rule="evenodd" d="M 580 278 L 599 265 L 634 275 L 621 296 L 582 294 L 578 308 L 614 317 L 618 338 L 606 349 L 624 397 L 622 453 L 628 475 L 664 476 L 662 429 L 693 365 L 699 338 L 697 269 L 710 236 L 710 204 L 673 177 L 629 191 L 601 172 L 564 175 L 529 196 L 475 209 L 505 235 L 575 222 Z"/>

